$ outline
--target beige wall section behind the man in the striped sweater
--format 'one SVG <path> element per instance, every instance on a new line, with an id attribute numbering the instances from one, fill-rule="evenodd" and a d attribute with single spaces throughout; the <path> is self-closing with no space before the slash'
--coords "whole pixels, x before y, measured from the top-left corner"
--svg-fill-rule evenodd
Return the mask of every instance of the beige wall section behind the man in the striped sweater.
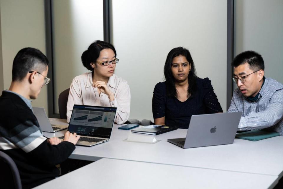
<path id="1" fill-rule="evenodd" d="M 0 13 L 0 89 L 9 89 L 13 59 L 20 49 L 34 47 L 46 53 L 44 0 L 0 0 Z M 46 86 L 32 106 L 45 107 L 48 112 Z"/>

